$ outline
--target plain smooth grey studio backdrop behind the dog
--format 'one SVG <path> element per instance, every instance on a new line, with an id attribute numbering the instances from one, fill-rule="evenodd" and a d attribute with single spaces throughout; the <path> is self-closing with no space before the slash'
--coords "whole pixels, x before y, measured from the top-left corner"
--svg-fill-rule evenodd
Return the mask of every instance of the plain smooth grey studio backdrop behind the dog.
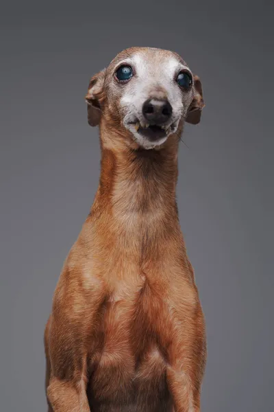
<path id="1" fill-rule="evenodd" d="M 203 82 L 177 186 L 207 321 L 202 411 L 273 410 L 273 8 L 2 2 L 1 411 L 46 410 L 44 325 L 99 181 L 84 95 L 132 45 L 179 52 Z"/>

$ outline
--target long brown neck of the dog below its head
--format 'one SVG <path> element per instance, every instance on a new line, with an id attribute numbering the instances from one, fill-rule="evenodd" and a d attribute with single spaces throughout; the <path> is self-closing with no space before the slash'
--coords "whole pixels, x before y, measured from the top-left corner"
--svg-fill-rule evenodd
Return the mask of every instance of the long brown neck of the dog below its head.
<path id="1" fill-rule="evenodd" d="M 175 189 L 177 142 L 162 150 L 111 150 L 101 145 L 101 176 L 90 218 L 104 242 L 123 252 L 161 253 L 180 236 Z"/>

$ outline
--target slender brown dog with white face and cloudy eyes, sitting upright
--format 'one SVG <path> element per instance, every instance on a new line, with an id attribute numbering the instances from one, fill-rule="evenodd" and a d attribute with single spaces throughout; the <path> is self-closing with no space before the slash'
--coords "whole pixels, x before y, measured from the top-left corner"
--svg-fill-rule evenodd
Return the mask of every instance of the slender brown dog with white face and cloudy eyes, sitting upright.
<path id="1" fill-rule="evenodd" d="M 200 411 L 205 324 L 175 187 L 201 82 L 177 54 L 134 47 L 86 101 L 101 178 L 45 330 L 49 411 Z"/>

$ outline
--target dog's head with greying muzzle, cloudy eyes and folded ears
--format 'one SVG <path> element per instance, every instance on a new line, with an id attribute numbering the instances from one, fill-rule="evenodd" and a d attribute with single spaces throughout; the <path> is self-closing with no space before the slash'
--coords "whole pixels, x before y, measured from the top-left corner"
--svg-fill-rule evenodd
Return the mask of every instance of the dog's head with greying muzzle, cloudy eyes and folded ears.
<path id="1" fill-rule="evenodd" d="M 125 49 L 93 76 L 86 102 L 90 126 L 105 119 L 127 143 L 147 149 L 179 137 L 184 122 L 199 123 L 204 106 L 201 81 L 186 62 L 147 47 Z"/>

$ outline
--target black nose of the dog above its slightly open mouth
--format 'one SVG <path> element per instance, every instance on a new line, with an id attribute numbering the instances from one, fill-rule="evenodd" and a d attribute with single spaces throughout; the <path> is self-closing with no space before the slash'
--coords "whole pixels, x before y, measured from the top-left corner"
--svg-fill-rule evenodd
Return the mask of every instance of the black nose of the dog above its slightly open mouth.
<path id="1" fill-rule="evenodd" d="M 142 114 L 150 124 L 164 124 L 172 114 L 168 100 L 148 99 L 142 105 Z"/>

